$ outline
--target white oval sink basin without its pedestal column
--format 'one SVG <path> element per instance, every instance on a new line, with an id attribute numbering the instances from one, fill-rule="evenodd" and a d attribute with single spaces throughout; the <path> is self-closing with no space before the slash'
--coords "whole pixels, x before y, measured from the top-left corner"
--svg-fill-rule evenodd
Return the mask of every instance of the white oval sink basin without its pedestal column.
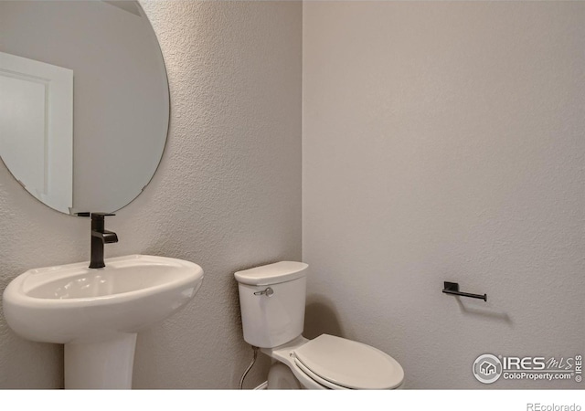
<path id="1" fill-rule="evenodd" d="M 37 342 L 138 332 L 191 300 L 203 280 L 197 264 L 176 258 L 135 255 L 105 263 L 103 269 L 83 262 L 21 274 L 4 292 L 8 325 Z"/>

